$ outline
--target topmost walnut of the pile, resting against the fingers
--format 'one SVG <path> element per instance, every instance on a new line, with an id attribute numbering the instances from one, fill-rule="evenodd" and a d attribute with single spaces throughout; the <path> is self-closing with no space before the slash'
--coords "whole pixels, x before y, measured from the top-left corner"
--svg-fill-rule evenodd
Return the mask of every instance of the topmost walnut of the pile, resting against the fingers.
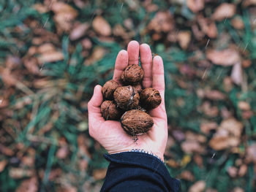
<path id="1" fill-rule="evenodd" d="M 138 65 L 129 65 L 121 74 L 121 80 L 126 85 L 136 85 L 143 79 L 143 69 Z"/>

